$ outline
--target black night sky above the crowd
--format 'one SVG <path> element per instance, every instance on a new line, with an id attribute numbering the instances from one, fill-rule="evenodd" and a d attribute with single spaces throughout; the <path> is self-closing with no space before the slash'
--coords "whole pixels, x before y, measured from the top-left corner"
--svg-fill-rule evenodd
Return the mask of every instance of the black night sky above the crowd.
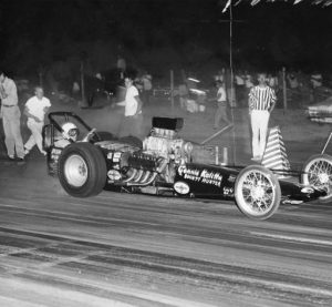
<path id="1" fill-rule="evenodd" d="M 242 3 L 234 12 L 236 68 L 332 70 L 332 6 Z M 153 72 L 228 63 L 229 12 L 217 0 L 1 0 L 1 64 L 32 73 L 85 54 Z"/>

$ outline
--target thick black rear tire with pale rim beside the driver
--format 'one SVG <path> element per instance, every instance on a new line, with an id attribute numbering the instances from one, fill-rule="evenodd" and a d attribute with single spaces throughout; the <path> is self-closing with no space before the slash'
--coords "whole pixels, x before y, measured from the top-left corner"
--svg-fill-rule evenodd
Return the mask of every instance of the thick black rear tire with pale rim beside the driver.
<path id="1" fill-rule="evenodd" d="M 106 175 L 105 157 L 91 143 L 73 143 L 59 157 L 59 181 L 71 196 L 97 195 L 105 186 Z"/>

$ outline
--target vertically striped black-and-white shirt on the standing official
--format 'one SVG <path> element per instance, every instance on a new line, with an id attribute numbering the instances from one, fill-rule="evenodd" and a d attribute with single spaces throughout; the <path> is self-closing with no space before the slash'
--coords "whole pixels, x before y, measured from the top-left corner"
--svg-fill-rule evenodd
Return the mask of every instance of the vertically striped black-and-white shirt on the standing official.
<path id="1" fill-rule="evenodd" d="M 253 86 L 249 93 L 250 110 L 269 110 L 277 100 L 274 90 L 270 86 Z"/>

